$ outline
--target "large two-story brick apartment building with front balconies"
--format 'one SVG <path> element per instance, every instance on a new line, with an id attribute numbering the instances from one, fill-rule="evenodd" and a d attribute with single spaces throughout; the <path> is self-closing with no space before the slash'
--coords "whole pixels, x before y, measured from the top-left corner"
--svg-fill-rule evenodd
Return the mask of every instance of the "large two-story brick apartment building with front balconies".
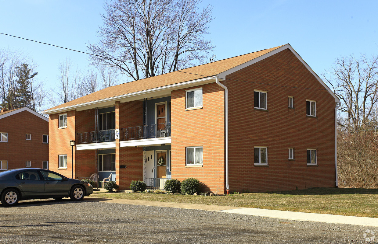
<path id="1" fill-rule="evenodd" d="M 50 169 L 71 175 L 75 140 L 74 177 L 111 174 L 120 189 L 188 177 L 216 193 L 335 187 L 338 103 L 289 44 L 265 49 L 44 111 Z"/>

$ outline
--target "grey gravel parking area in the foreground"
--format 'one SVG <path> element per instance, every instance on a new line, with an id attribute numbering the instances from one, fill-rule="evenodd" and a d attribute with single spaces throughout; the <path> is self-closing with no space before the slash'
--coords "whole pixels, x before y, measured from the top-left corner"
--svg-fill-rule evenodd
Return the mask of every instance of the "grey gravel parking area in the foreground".
<path id="1" fill-rule="evenodd" d="M 364 226 L 70 199 L 0 205 L 0 223 L 0 243 L 376 243 Z"/>

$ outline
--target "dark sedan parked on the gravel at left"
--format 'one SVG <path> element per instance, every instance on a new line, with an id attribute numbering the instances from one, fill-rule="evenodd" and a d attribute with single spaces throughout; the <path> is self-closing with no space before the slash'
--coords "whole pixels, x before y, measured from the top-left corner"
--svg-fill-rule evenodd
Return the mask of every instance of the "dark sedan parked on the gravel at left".
<path id="1" fill-rule="evenodd" d="M 0 201 L 14 206 L 19 200 L 70 197 L 82 200 L 93 193 L 91 184 L 46 169 L 11 169 L 0 172 Z"/>

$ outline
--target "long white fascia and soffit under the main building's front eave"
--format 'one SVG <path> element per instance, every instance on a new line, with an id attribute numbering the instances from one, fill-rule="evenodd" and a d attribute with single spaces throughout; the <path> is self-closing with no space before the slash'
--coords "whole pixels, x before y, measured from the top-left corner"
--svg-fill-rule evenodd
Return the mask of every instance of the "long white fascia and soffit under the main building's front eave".
<path id="1" fill-rule="evenodd" d="M 44 114 L 57 114 L 60 112 L 65 112 L 65 111 L 74 110 L 74 109 L 76 109 L 77 111 L 81 111 L 85 109 L 91 109 L 95 107 L 101 107 L 101 106 L 114 104 L 115 101 L 121 101 L 121 102 L 134 101 L 134 100 L 146 98 L 146 95 L 150 96 L 151 94 L 155 94 L 155 93 L 162 94 L 163 92 L 170 92 L 172 90 L 182 89 L 182 88 L 196 86 L 200 84 L 211 83 L 213 82 L 213 80 L 215 80 L 214 77 L 205 77 L 205 78 L 201 78 L 197 80 L 185 81 L 181 83 L 170 84 L 167 86 L 156 87 L 156 88 L 152 88 L 152 89 L 148 89 L 144 91 L 122 94 L 116 97 L 109 97 L 109 98 L 90 101 L 86 103 L 71 105 L 67 107 L 61 107 L 58 109 L 47 109 L 47 110 L 44 110 L 43 113 Z"/>

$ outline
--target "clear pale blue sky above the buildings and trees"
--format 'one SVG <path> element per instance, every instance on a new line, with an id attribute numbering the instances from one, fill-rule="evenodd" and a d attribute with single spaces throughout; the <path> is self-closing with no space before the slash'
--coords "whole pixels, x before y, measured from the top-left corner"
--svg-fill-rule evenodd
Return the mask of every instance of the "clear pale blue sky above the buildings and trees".
<path id="1" fill-rule="evenodd" d="M 211 38 L 217 60 L 290 43 L 317 73 L 336 58 L 378 52 L 378 1 L 203 0 L 211 4 Z M 88 51 L 102 25 L 102 1 L 0 0 L 0 32 Z M 70 58 L 82 71 L 85 54 L 0 34 L 0 49 L 19 50 L 38 65 L 46 87 L 56 87 L 60 60 Z M 126 80 L 125 80 L 126 81 Z"/>

